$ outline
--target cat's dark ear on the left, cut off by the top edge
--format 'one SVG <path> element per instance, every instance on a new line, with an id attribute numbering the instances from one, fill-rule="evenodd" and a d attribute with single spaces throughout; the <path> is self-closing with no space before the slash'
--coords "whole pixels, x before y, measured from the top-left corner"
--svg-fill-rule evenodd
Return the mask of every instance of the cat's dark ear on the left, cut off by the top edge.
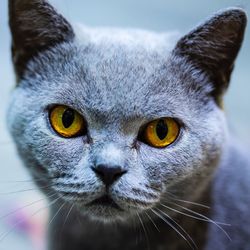
<path id="1" fill-rule="evenodd" d="M 9 25 L 18 79 L 37 53 L 74 37 L 71 25 L 45 0 L 9 0 Z"/>

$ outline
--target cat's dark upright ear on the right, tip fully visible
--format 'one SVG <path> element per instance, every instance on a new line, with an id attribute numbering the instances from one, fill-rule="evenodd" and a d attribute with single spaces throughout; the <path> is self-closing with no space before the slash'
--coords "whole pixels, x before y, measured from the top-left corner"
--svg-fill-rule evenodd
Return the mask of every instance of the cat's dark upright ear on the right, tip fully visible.
<path id="1" fill-rule="evenodd" d="M 242 9 L 227 9 L 182 37 L 174 49 L 175 55 L 186 58 L 206 72 L 214 85 L 212 94 L 218 102 L 228 87 L 246 22 L 246 13 Z"/>

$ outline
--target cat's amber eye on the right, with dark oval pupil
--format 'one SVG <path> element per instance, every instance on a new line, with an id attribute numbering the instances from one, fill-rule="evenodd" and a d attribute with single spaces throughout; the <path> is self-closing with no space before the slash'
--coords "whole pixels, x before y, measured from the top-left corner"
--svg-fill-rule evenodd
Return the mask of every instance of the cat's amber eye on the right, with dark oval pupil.
<path id="1" fill-rule="evenodd" d="M 179 124 L 173 118 L 160 118 L 144 127 L 142 140 L 152 147 L 164 148 L 177 139 L 179 132 Z"/>

